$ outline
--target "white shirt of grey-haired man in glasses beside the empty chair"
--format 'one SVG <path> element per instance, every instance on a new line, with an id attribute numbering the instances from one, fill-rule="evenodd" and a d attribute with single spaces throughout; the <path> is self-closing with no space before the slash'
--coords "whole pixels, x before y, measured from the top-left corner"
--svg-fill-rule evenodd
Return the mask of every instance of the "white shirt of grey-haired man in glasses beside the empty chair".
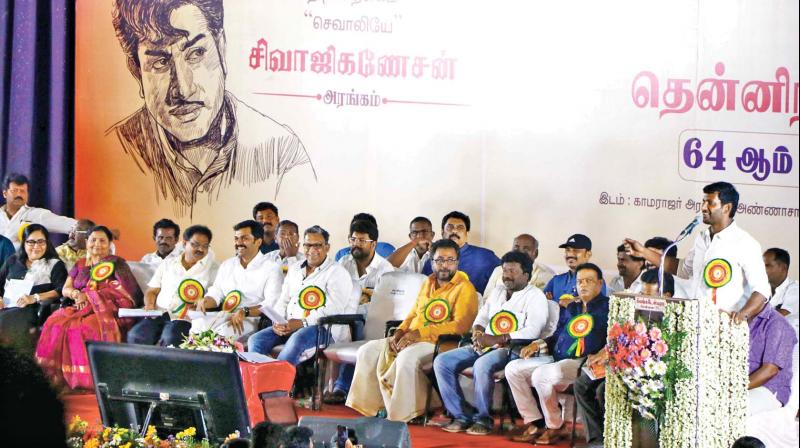
<path id="1" fill-rule="evenodd" d="M 331 254 L 308 276 L 307 263 L 303 261 L 289 267 L 276 311 L 286 319 L 305 319 L 309 325 L 316 325 L 320 317 L 355 313 L 358 301 L 353 300 L 353 280 L 347 270 L 336 263 Z M 322 290 L 325 305 L 306 315 L 306 310 L 300 306 L 300 293 L 309 286 Z"/>

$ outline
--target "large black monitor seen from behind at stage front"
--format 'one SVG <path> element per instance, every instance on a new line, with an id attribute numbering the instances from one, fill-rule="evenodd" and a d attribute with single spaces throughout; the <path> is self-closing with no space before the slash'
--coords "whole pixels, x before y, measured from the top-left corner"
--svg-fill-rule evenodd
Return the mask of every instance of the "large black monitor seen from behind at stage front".
<path id="1" fill-rule="evenodd" d="M 96 341 L 86 349 L 104 425 L 154 425 L 163 437 L 194 426 L 211 442 L 250 435 L 236 354 Z"/>

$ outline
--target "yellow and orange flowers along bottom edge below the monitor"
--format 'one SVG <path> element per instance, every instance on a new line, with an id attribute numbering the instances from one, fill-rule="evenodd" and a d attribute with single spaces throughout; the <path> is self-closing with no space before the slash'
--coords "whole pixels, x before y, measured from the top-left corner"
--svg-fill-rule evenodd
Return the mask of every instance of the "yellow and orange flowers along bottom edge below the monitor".
<path id="1" fill-rule="evenodd" d="M 208 439 L 197 440 L 197 430 L 186 428 L 166 439 L 158 437 L 155 426 L 148 426 L 144 437 L 130 429 L 120 427 L 101 427 L 92 429 L 89 424 L 76 415 L 67 427 L 67 446 L 69 448 L 211 448 Z M 225 442 L 239 437 L 236 431 Z"/>

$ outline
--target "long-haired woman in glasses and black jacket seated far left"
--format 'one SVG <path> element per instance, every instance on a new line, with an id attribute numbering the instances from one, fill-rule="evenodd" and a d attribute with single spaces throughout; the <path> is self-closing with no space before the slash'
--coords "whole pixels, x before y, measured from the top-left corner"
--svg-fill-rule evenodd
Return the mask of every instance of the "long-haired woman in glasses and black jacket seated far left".
<path id="1" fill-rule="evenodd" d="M 47 229 L 39 224 L 25 227 L 17 253 L 0 268 L 0 296 L 5 298 L 0 300 L 0 340 L 33 356 L 36 341 L 31 333 L 39 325 L 40 308 L 61 298 L 66 280 L 67 268 Z M 25 291 L 19 296 L 21 286 Z M 13 297 L 12 290 L 17 292 Z"/>

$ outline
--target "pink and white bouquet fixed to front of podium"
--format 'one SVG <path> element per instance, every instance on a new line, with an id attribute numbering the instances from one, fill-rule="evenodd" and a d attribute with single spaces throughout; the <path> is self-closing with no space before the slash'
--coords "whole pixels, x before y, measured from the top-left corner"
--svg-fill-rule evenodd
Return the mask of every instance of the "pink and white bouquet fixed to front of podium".
<path id="1" fill-rule="evenodd" d="M 675 381 L 691 376 L 681 359 L 673 356 L 686 336 L 669 330 L 669 322 L 628 320 L 614 322 L 608 330 L 609 368 L 628 389 L 633 409 L 648 419 L 662 420 L 664 409 L 675 396 Z"/>

